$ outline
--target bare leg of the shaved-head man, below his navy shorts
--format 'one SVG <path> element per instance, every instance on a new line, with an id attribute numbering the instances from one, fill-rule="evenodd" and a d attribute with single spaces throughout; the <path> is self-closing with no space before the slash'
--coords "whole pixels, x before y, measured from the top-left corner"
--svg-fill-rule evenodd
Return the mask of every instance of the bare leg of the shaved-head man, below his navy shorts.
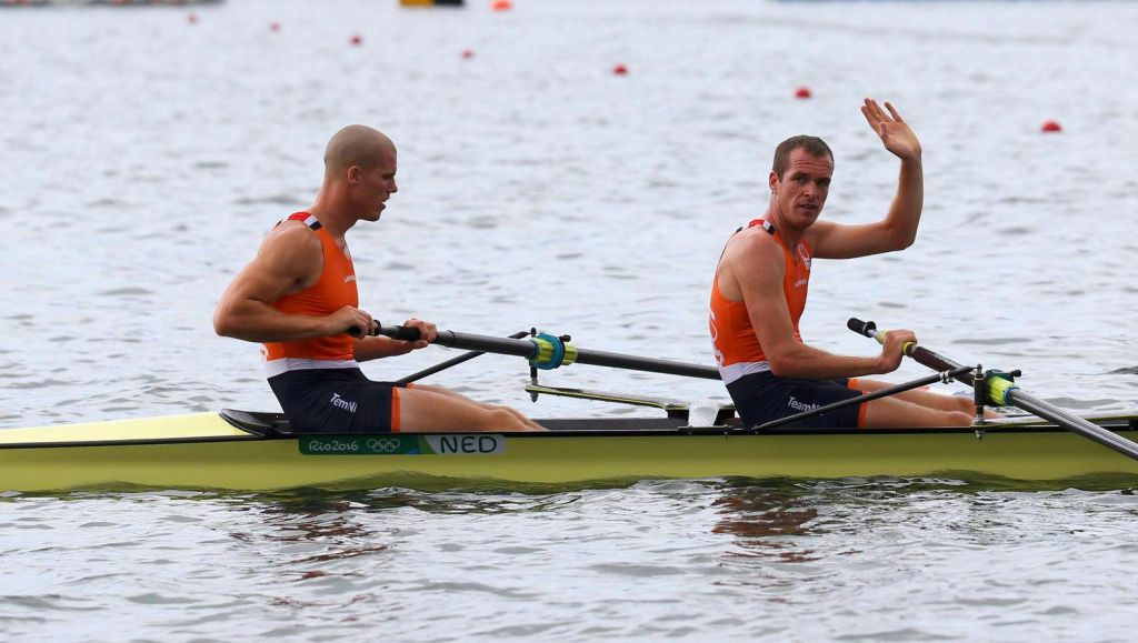
<path id="1" fill-rule="evenodd" d="M 508 406 L 475 402 L 434 386 L 399 393 L 399 427 L 404 432 L 544 431 L 545 428 Z"/>

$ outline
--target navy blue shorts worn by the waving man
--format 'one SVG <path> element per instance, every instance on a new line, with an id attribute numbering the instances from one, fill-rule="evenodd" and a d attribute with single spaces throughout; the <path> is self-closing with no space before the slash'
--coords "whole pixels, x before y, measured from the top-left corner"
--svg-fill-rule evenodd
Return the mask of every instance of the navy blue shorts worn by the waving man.
<path id="1" fill-rule="evenodd" d="M 826 404 L 852 399 L 861 391 L 851 381 L 800 380 L 780 378 L 769 372 L 751 373 L 727 385 L 735 410 L 743 423 L 757 427 L 787 415 L 811 411 Z M 787 427 L 801 429 L 853 429 L 865 423 L 866 404 L 850 404 L 836 411 L 814 415 Z"/>

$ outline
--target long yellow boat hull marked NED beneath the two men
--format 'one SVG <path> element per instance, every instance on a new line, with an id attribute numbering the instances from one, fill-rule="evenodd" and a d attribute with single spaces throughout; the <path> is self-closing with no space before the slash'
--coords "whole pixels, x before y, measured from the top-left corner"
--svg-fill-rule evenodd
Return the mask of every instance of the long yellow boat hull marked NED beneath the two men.
<path id="1" fill-rule="evenodd" d="M 432 489 L 879 476 L 1138 484 L 1138 462 L 1047 426 L 998 427 L 978 439 L 971 429 L 756 435 L 682 423 L 561 420 L 550 421 L 554 430 L 547 434 L 265 436 L 201 413 L 11 429 L 0 431 L 0 492 Z M 1111 428 L 1138 437 L 1129 423 Z"/>

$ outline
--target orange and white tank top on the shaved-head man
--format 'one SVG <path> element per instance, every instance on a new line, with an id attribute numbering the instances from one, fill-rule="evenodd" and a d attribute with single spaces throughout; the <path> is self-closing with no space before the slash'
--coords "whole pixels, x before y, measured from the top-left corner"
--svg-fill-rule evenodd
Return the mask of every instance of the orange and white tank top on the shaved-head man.
<path id="1" fill-rule="evenodd" d="M 360 294 L 352 257 L 340 249 L 314 214 L 298 212 L 286 221 L 303 221 L 316 233 L 324 254 L 324 270 L 312 287 L 286 295 L 272 306 L 282 313 L 314 316 L 330 315 L 344 306 L 358 306 Z M 262 351 L 265 371 L 273 377 L 304 369 L 355 369 L 360 364 L 355 361 L 354 343 L 347 332 L 335 337 L 266 343 Z"/>

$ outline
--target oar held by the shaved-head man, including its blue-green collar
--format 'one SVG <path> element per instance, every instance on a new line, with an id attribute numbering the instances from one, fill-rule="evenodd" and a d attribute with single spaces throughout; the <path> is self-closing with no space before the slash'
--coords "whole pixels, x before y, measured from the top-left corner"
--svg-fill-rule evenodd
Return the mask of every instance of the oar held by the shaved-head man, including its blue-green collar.
<path id="1" fill-rule="evenodd" d="M 354 330 L 355 332 L 352 332 Z M 358 337 L 358 329 L 348 332 Z M 419 329 L 403 325 L 380 325 L 377 324 L 373 335 L 382 335 L 391 339 L 414 341 L 419 339 Z M 509 337 L 488 337 L 484 335 L 470 335 L 465 332 L 454 332 L 451 330 L 438 331 L 438 337 L 431 344 L 445 346 L 447 348 L 461 348 L 464 351 L 485 351 L 486 353 L 497 353 L 500 355 L 516 355 L 525 357 L 530 365 L 543 370 L 551 370 L 568 364 L 592 364 L 594 366 L 609 366 L 613 369 L 628 369 L 633 371 L 648 371 L 652 373 L 666 373 L 673 376 L 684 376 L 690 378 L 719 379 L 719 371 L 714 366 L 702 366 L 699 364 L 687 364 L 684 362 L 673 362 L 669 360 L 658 360 L 655 357 L 637 357 L 635 355 L 622 355 L 620 353 L 605 353 L 603 351 L 589 351 L 577 348 L 568 339 L 554 337 L 547 333 L 539 333 L 528 339 L 514 339 Z"/>

